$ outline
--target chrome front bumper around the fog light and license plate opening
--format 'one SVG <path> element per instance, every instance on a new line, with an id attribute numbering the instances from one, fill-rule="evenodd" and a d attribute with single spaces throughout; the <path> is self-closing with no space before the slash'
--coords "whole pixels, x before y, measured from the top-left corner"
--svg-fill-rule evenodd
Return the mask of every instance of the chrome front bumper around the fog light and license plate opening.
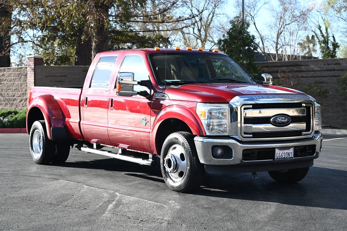
<path id="1" fill-rule="evenodd" d="M 320 144 L 321 144 L 322 138 L 323 138 L 322 133 L 316 132 L 310 138 L 288 140 L 288 141 L 276 141 L 276 138 L 275 138 L 274 141 L 272 142 L 269 142 L 269 141 L 242 142 L 240 140 L 235 140 L 228 137 L 213 138 L 213 137 L 196 136 L 194 138 L 194 142 L 195 142 L 196 151 L 197 151 L 199 160 L 203 165 L 213 165 L 215 167 L 231 166 L 231 165 L 271 166 L 271 165 L 288 163 L 288 168 L 295 168 L 293 167 L 295 166 L 293 165 L 293 162 L 298 163 L 299 161 L 300 162 L 307 161 L 307 165 L 310 165 L 310 166 L 313 165 L 313 159 L 316 159 L 319 156 Z M 219 145 L 229 146 L 232 149 L 232 159 L 215 159 L 212 157 L 212 146 L 219 146 Z M 288 146 L 294 147 L 294 146 L 302 146 L 302 145 L 316 145 L 315 154 L 313 156 L 297 157 L 297 158 L 294 158 L 293 160 L 282 160 L 282 161 L 275 161 L 275 160 L 243 161 L 242 160 L 242 153 L 244 149 L 281 148 L 281 147 L 288 147 Z M 308 164 L 308 162 L 310 163 Z M 283 166 L 281 166 L 281 168 L 284 169 Z M 269 170 L 272 170 L 272 169 L 269 169 Z M 264 170 L 264 171 L 269 171 L 269 170 Z M 251 170 L 247 170 L 247 171 L 251 171 Z"/>

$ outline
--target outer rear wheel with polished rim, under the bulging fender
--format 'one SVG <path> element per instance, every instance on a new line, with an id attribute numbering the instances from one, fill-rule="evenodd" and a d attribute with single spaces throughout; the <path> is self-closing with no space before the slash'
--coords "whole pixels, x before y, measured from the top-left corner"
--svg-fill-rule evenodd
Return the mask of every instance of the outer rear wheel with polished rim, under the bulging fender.
<path id="1" fill-rule="evenodd" d="M 56 142 L 48 139 L 44 120 L 35 121 L 30 130 L 30 152 L 35 163 L 49 164 L 55 152 Z"/>

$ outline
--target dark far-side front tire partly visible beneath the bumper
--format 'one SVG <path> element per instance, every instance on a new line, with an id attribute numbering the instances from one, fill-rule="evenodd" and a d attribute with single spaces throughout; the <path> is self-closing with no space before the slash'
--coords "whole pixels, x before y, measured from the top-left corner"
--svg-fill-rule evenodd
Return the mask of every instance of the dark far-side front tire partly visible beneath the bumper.
<path id="1" fill-rule="evenodd" d="M 282 183 L 295 183 L 305 178 L 310 167 L 269 171 L 272 179 Z"/>

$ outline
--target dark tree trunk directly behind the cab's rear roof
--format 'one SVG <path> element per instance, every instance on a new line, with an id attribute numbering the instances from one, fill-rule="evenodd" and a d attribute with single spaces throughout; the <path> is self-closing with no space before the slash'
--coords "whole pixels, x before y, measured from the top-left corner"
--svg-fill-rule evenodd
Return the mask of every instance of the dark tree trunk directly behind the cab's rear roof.
<path id="1" fill-rule="evenodd" d="M 95 7 L 99 8 L 106 20 L 109 18 L 109 5 L 100 3 Z M 105 19 L 99 19 L 99 25 L 96 26 L 96 34 L 93 39 L 93 59 L 96 54 L 109 50 L 109 29 L 105 25 Z"/>

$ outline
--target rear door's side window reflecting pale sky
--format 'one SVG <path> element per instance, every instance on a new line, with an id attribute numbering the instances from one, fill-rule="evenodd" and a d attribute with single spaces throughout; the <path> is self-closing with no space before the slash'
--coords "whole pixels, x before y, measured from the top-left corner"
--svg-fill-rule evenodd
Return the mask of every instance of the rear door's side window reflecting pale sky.
<path id="1" fill-rule="evenodd" d="M 116 61 L 117 56 L 105 56 L 99 59 L 90 84 L 91 88 L 108 88 Z"/>

